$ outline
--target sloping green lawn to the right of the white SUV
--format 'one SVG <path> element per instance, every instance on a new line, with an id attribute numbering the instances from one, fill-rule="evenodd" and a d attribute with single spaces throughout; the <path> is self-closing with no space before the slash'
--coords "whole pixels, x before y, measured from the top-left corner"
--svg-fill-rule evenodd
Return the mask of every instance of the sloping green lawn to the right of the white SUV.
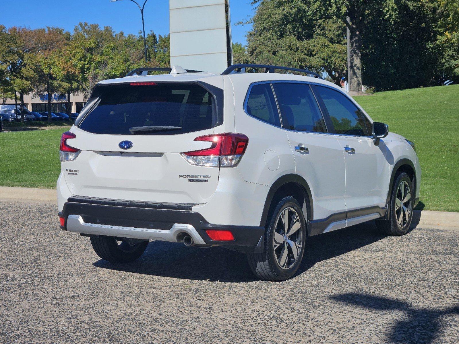
<path id="1" fill-rule="evenodd" d="M 420 207 L 459 211 L 459 85 L 379 92 L 355 100 L 375 121 L 416 144 Z"/>

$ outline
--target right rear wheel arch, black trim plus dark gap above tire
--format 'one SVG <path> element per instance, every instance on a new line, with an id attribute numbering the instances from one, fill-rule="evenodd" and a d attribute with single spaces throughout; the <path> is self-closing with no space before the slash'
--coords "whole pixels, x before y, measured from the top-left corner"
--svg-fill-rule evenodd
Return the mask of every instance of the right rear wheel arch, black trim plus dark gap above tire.
<path id="1" fill-rule="evenodd" d="M 269 210 L 275 205 L 275 201 L 280 200 L 287 195 L 295 197 L 300 205 L 302 205 L 301 203 L 304 201 L 304 205 L 302 206 L 306 206 L 307 209 L 306 222 L 308 223 L 313 219 L 313 198 L 311 189 L 304 178 L 291 173 L 285 174 L 276 179 L 276 181 L 271 185 L 264 202 L 260 226 L 264 227 L 266 225 Z"/>

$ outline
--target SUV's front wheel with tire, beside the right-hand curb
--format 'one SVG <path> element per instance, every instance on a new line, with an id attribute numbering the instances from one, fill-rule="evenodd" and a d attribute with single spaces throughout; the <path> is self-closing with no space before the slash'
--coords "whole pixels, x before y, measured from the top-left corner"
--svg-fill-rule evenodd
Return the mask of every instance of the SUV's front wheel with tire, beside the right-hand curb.
<path id="1" fill-rule="evenodd" d="M 389 200 L 389 219 L 376 220 L 376 228 L 386 235 L 400 236 L 408 233 L 413 220 L 414 190 L 405 172 L 395 176 Z"/>

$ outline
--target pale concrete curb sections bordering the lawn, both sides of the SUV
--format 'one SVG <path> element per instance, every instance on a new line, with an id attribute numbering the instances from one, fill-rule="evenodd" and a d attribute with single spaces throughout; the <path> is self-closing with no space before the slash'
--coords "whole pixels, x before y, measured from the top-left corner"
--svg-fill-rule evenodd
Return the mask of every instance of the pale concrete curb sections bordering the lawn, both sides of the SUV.
<path id="1" fill-rule="evenodd" d="M 0 186 L 0 200 L 12 202 L 57 203 L 56 189 L 33 189 Z M 459 230 L 459 213 L 415 210 L 412 228 Z"/>

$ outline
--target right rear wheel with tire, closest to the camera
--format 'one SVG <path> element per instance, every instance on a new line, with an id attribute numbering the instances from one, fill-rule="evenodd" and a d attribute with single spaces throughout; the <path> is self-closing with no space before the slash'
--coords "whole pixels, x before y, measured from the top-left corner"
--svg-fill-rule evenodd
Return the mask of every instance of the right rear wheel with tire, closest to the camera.
<path id="1" fill-rule="evenodd" d="M 267 281 L 284 281 L 297 272 L 306 244 L 306 221 L 298 201 L 287 196 L 266 221 L 263 253 L 248 253 L 252 272 Z"/>

